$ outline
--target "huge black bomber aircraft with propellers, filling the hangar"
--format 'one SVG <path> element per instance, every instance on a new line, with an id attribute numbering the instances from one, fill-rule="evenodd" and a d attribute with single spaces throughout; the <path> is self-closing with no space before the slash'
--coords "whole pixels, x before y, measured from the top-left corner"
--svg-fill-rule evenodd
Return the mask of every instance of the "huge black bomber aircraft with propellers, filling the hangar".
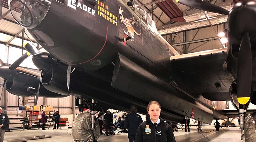
<path id="1" fill-rule="evenodd" d="M 49 52 L 26 47 L 41 70 L 39 86 L 117 110 L 135 105 L 142 114 L 156 100 L 161 117 L 183 123 L 185 115 L 208 124 L 226 119 L 223 100 L 231 100 L 243 129 L 249 103 L 256 104 L 256 2 L 240 1 L 229 12 L 176 1 L 228 15 L 228 48 L 180 55 L 135 0 L 9 0 L 9 9 Z"/>

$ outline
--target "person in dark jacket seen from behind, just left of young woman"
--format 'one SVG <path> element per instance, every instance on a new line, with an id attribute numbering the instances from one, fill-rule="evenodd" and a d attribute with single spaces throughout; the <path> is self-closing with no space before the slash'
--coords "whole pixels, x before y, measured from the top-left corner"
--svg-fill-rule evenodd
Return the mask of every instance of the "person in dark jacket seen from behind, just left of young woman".
<path id="1" fill-rule="evenodd" d="M 137 108 L 131 106 L 131 113 L 126 115 L 124 120 L 124 126 L 128 129 L 128 138 L 129 142 L 133 142 L 137 133 L 137 129 L 142 121 L 142 118 L 139 114 L 136 114 Z"/>

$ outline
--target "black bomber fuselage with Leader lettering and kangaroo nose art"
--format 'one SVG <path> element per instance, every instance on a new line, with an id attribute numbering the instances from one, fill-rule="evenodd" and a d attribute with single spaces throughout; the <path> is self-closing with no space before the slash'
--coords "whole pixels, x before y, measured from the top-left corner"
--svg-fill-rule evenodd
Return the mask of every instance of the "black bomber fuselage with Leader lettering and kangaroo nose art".
<path id="1" fill-rule="evenodd" d="M 22 4 L 19 12 L 15 5 Z M 170 57 L 179 53 L 158 34 L 143 8 L 135 2 L 132 7 L 121 0 L 9 1 L 15 20 L 61 61 L 58 64 L 76 69 L 67 92 L 120 109 L 134 104 L 144 114 L 147 103 L 156 100 L 165 118 L 178 122 L 192 108 L 202 122 L 227 118 L 224 102 L 205 99 L 178 81 Z M 54 80 L 53 68 L 42 82 Z M 58 72 L 66 75 L 66 69 Z"/>

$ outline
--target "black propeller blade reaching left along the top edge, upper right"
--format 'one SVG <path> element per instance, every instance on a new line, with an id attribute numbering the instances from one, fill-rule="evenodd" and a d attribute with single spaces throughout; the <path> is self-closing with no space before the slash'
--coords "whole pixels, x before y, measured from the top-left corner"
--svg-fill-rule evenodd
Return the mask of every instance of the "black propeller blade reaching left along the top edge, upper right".
<path id="1" fill-rule="evenodd" d="M 219 13 L 219 14 L 224 14 L 224 15 L 228 15 L 228 13 L 229 13 L 228 10 L 226 10 L 220 6 L 217 6 L 217 5 L 214 5 L 211 3 L 207 3 L 207 2 L 204 2 L 201 0 L 175 0 L 175 1 L 180 4 L 187 5 L 189 7 L 193 7 L 196 9 L 203 10 L 203 11 L 214 12 L 214 13 Z"/>

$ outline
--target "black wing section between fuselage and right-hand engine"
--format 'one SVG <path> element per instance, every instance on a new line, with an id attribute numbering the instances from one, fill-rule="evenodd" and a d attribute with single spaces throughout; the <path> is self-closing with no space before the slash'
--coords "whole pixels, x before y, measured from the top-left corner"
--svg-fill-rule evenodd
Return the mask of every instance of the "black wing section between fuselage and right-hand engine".
<path id="1" fill-rule="evenodd" d="M 234 77 L 228 74 L 228 48 L 172 56 L 171 70 L 181 82 L 212 101 L 230 100 L 229 88 Z"/>

